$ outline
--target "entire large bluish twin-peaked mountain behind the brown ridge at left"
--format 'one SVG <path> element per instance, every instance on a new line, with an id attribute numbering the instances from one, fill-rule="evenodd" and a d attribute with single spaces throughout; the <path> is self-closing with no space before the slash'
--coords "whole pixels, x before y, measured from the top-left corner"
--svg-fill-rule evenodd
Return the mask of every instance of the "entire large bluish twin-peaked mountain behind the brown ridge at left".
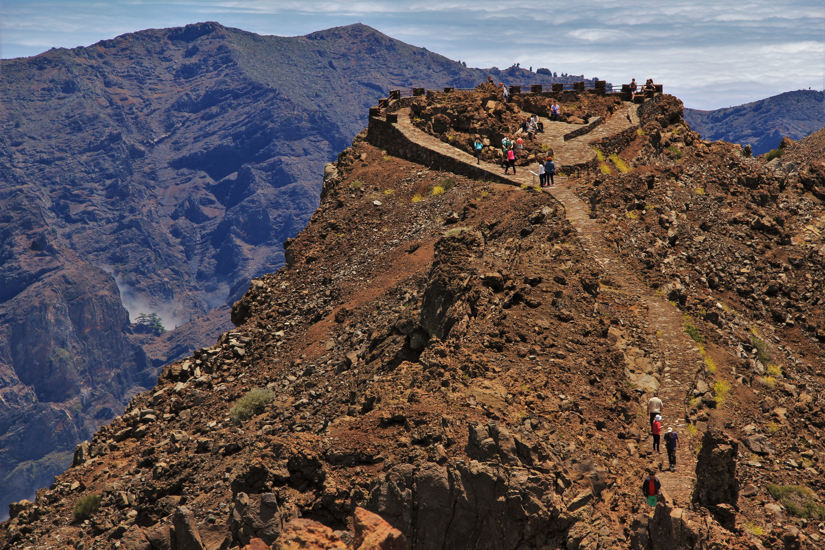
<path id="1" fill-rule="evenodd" d="M 31 496 L 160 365 L 230 326 L 226 304 L 283 264 L 365 106 L 486 78 L 367 26 L 217 23 L 4 59 L 2 74 L 0 502 Z M 182 327 L 133 334 L 126 310 Z"/>

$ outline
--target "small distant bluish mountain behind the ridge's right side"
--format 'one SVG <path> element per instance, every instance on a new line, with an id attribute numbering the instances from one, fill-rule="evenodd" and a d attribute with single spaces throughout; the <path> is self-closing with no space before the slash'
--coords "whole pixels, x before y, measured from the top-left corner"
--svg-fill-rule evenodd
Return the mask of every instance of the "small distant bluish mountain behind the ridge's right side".
<path id="1" fill-rule="evenodd" d="M 703 139 L 751 145 L 760 155 L 779 146 L 785 136 L 803 139 L 825 127 L 823 95 L 797 90 L 716 110 L 685 109 L 684 119 Z"/>

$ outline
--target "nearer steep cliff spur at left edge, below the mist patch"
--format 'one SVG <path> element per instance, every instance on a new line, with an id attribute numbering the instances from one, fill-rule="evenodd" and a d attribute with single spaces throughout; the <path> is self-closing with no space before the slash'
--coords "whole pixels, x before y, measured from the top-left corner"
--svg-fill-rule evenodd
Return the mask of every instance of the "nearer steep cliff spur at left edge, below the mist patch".
<path id="1" fill-rule="evenodd" d="M 0 499 L 50 482 L 73 442 L 151 387 L 152 365 L 130 344 L 115 281 L 82 261 L 45 223 L 42 195 L 0 200 Z"/>

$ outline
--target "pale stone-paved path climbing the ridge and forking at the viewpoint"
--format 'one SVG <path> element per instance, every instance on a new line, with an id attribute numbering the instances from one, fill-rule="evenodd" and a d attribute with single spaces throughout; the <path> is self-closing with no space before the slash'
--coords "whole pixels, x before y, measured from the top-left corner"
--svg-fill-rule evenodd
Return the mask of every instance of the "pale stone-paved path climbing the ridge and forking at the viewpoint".
<path id="1" fill-rule="evenodd" d="M 563 128 L 568 131 L 569 125 L 559 122 L 544 122 L 545 134 L 540 139 L 554 148 L 557 158 L 564 159 L 563 164 L 577 164 L 587 162 L 595 156 L 595 152 L 587 147 L 587 143 L 594 139 L 600 139 L 610 134 L 615 134 L 631 125 L 639 124 L 636 117 L 635 106 L 625 105 L 625 112 L 617 112 L 606 123 L 596 126 L 589 134 L 584 134 L 567 142 L 563 141 Z M 529 170 L 519 168 L 515 176 L 502 176 L 499 167 L 493 164 L 482 162 L 476 163 L 475 157 L 469 153 L 464 153 L 440 139 L 422 132 L 410 122 L 407 110 L 398 111 L 398 129 L 405 134 L 408 139 L 418 145 L 430 149 L 431 152 L 453 157 L 473 167 L 479 167 L 491 176 L 504 177 L 507 181 L 516 186 L 524 183 L 532 185 L 533 176 Z M 485 166 L 486 164 L 486 166 Z M 537 172 L 534 168 L 534 172 Z M 601 266 L 606 278 L 615 283 L 615 288 L 606 288 L 604 292 L 631 294 L 637 297 L 640 303 L 648 306 L 648 330 L 658 334 L 656 345 L 653 347 L 652 358 L 656 364 L 655 372 L 658 373 L 660 388 L 659 398 L 664 403 L 662 410 L 662 425 L 664 428 L 671 426 L 680 435 L 681 449 L 677 454 L 677 468 L 675 472 L 661 472 L 659 475 L 662 481 L 662 489 L 667 497 L 674 501 L 676 505 L 684 506 L 691 500 L 693 490 L 693 479 L 695 478 L 695 445 L 698 443 L 697 435 L 691 438 L 686 432 L 686 408 L 687 399 L 695 387 L 696 374 L 703 364 L 700 351 L 695 347 L 694 341 L 686 334 L 684 329 L 684 319 L 681 311 L 672 306 L 661 296 L 655 294 L 653 289 L 643 284 L 643 281 L 635 273 L 635 267 L 629 266 L 625 258 L 617 251 L 615 244 L 605 238 L 605 232 L 601 224 L 596 223 L 588 214 L 589 205 L 582 201 L 570 188 L 568 178 L 560 176 L 556 178 L 557 186 L 545 189 L 550 195 L 564 205 L 567 219 L 577 232 L 577 237 L 582 243 L 582 247 Z M 647 396 L 643 398 L 643 407 L 647 405 Z M 643 450 L 652 449 L 652 438 L 648 435 L 643 438 L 640 448 Z M 667 454 L 662 441 L 662 454 L 654 455 L 653 460 L 648 462 L 657 466 L 660 461 L 667 468 Z M 661 458 L 660 458 L 661 457 Z"/>

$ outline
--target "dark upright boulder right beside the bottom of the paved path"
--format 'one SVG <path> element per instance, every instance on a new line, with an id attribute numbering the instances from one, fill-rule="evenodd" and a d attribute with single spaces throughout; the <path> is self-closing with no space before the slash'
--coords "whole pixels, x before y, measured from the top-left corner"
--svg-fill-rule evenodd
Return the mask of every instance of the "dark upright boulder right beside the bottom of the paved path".
<path id="1" fill-rule="evenodd" d="M 714 429 L 705 431 L 696 460 L 695 504 L 706 508 L 720 504 L 736 506 L 739 499 L 739 480 L 736 477 L 738 450 L 738 441 L 723 432 Z"/>

